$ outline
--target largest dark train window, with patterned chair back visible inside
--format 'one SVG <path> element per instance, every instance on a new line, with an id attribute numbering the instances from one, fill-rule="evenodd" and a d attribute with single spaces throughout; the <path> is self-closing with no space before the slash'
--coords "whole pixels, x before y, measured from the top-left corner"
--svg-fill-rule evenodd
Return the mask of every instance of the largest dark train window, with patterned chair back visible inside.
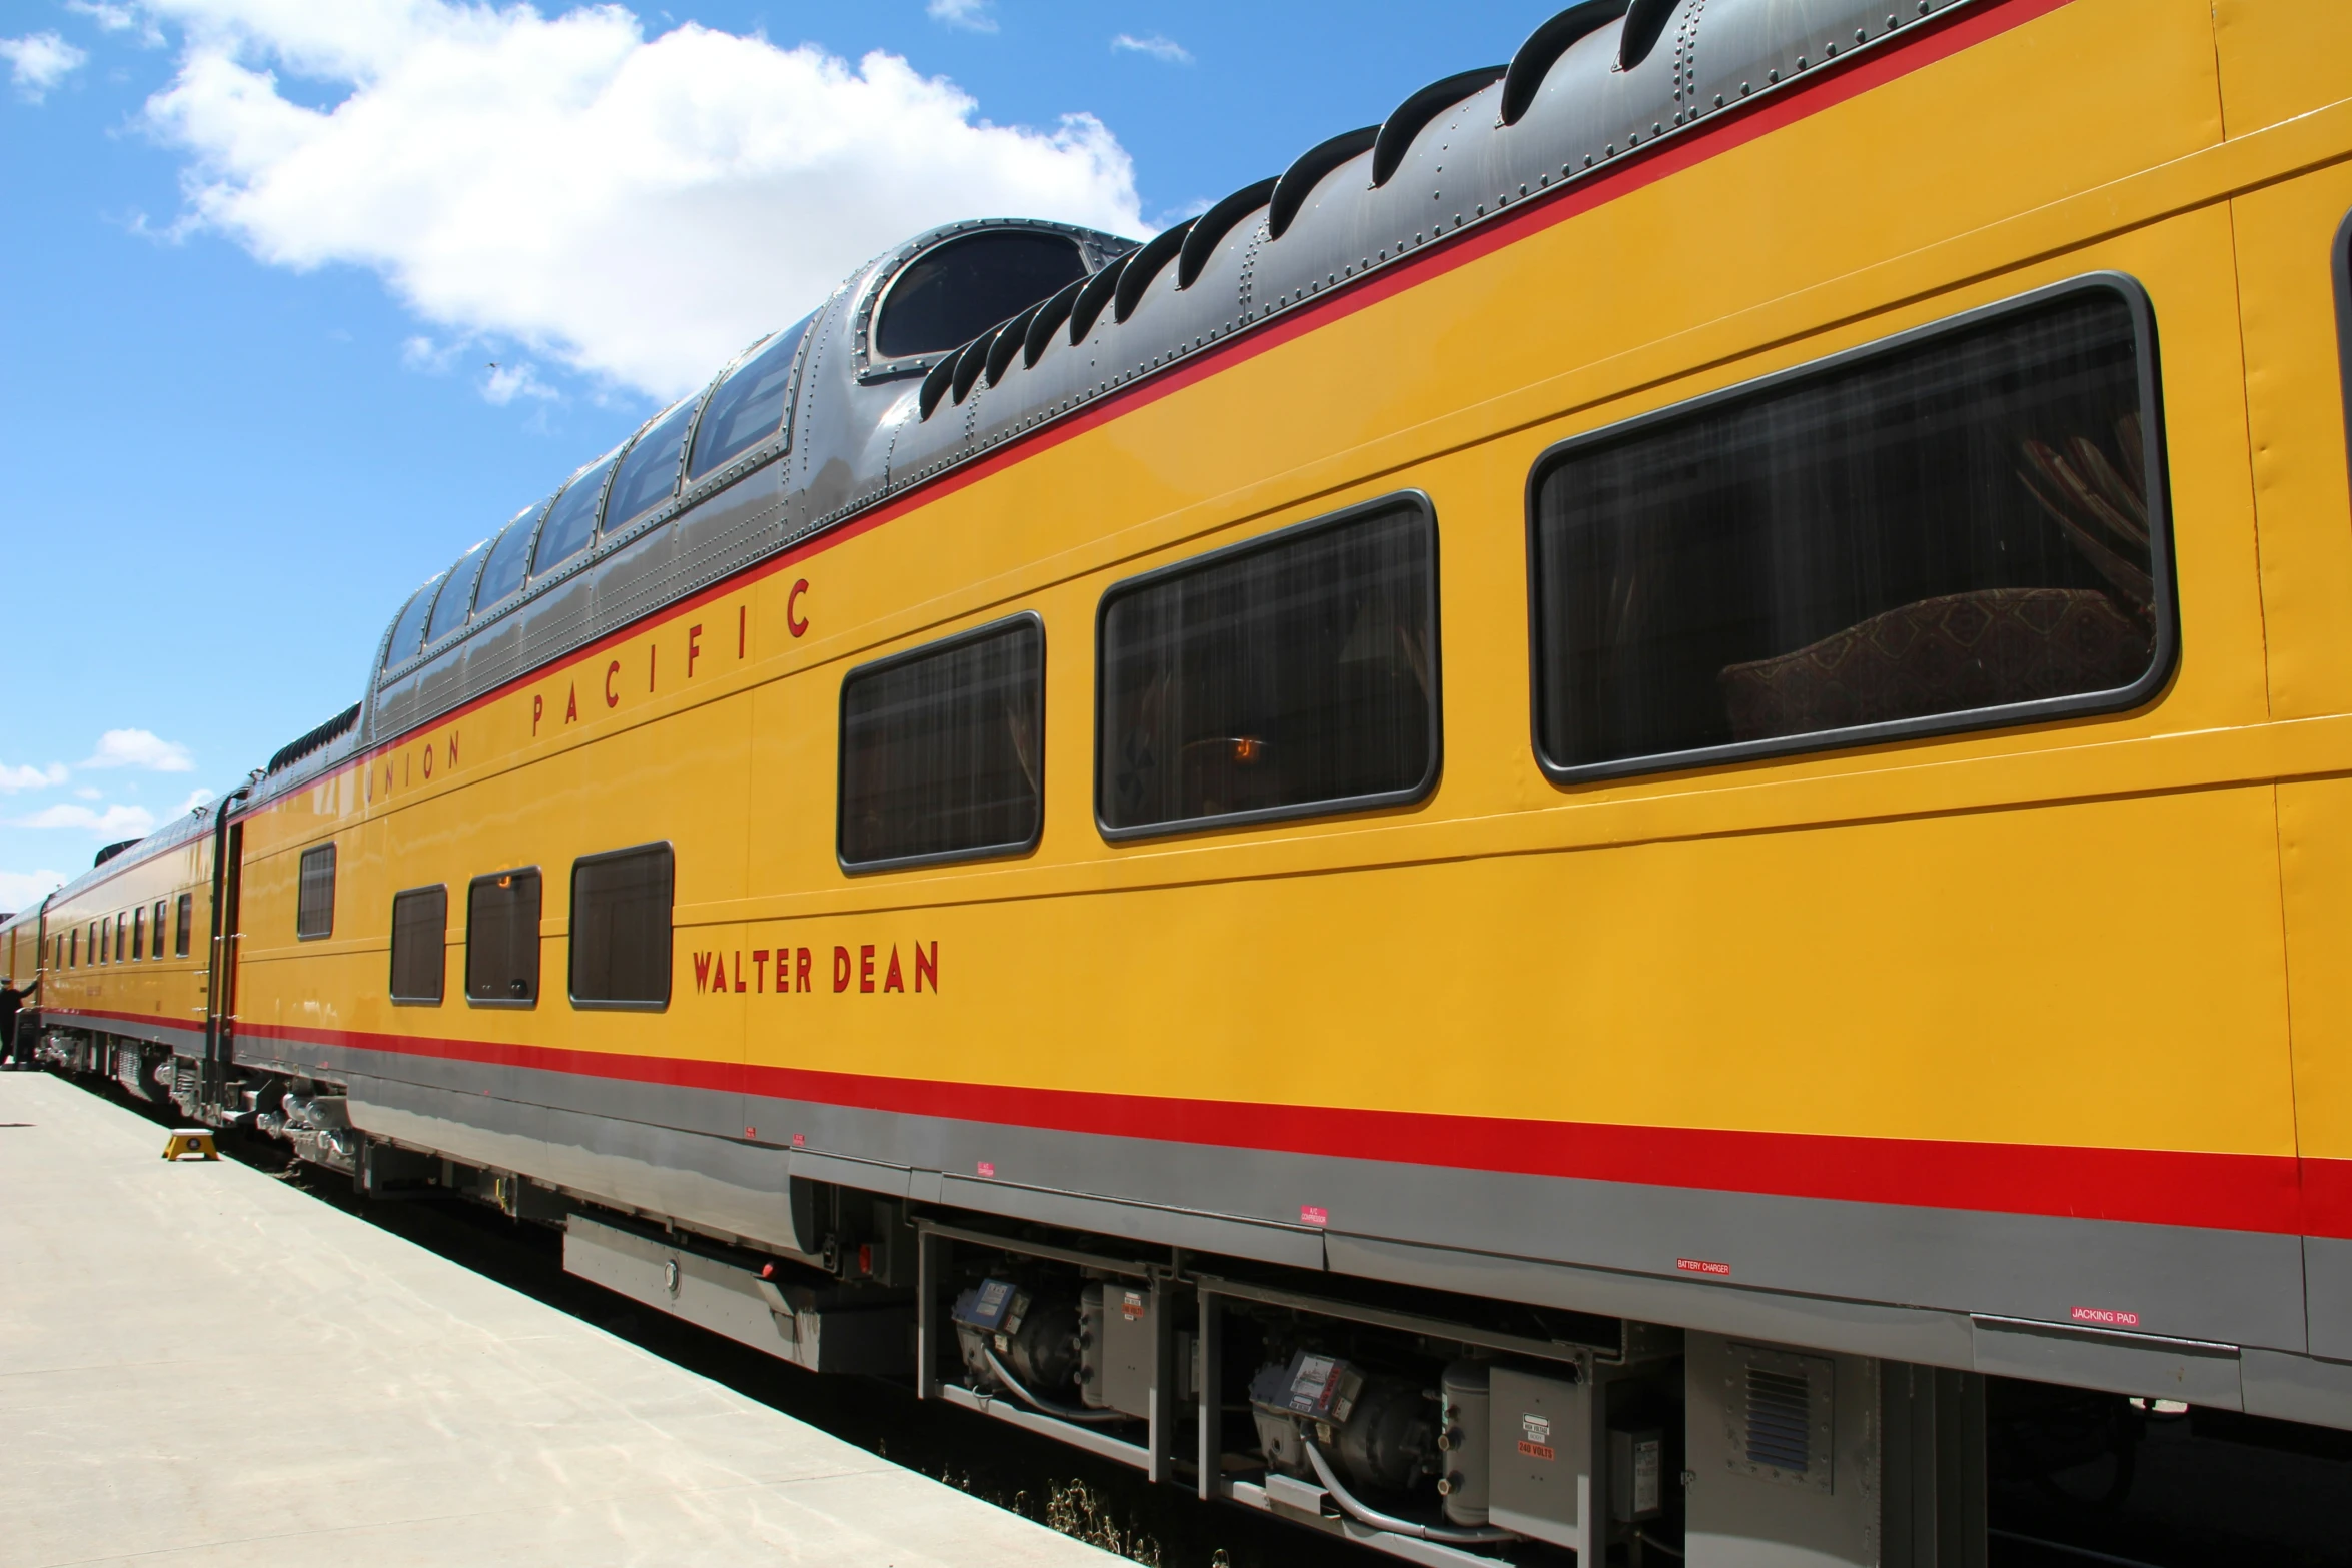
<path id="1" fill-rule="evenodd" d="M 2173 642 L 2147 341 L 2084 280 L 1545 454 L 1545 771 L 2143 701 Z"/>

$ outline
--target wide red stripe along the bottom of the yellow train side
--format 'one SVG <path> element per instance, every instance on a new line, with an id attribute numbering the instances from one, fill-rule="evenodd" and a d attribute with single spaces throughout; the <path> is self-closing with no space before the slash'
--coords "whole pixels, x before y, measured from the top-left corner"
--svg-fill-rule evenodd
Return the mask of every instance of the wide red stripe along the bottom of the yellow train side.
<path id="1" fill-rule="evenodd" d="M 894 1079 L 350 1030 L 270 1025 L 240 1025 L 240 1030 L 397 1056 L 1157 1143 L 1853 1204 L 2352 1237 L 2352 1161 L 2307 1161 L 2307 1166 L 2333 1166 L 2331 1180 L 2336 1185 L 2328 1192 L 2336 1194 L 2336 1201 L 2324 1208 L 2326 1227 L 2305 1232 L 2298 1161 L 2288 1154 L 2194 1154 L 2032 1143 L 1738 1133 L 1609 1121 L 1522 1121 L 1512 1117 Z M 2314 1222 L 2319 1218 L 2314 1213 Z"/>

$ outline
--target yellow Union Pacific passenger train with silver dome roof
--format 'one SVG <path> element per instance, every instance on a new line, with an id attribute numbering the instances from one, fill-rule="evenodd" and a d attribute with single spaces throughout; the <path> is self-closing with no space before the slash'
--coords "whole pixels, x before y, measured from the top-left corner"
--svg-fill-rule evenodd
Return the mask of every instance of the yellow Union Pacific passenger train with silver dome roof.
<path id="1" fill-rule="evenodd" d="M 1425 1563 L 1976 1563 L 1987 1387 L 2352 1427 L 2347 82 L 1588 0 L 920 235 L 19 917 L 45 1048 Z"/>

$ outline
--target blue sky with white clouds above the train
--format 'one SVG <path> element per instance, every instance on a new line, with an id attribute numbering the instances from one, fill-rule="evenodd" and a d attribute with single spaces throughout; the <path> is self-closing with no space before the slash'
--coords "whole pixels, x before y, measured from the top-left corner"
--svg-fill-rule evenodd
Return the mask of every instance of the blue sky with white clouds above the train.
<path id="1" fill-rule="evenodd" d="M 0 0 L 0 910 L 863 256 L 1174 221 L 1557 2 Z"/>

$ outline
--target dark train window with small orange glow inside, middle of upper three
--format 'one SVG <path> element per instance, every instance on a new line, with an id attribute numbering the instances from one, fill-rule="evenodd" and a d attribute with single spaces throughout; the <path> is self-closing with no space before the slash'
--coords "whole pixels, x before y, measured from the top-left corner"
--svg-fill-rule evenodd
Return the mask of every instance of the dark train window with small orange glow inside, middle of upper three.
<path id="1" fill-rule="evenodd" d="M 1392 496 L 1103 595 L 1108 837 L 1421 799 L 1437 783 L 1437 517 Z"/>

